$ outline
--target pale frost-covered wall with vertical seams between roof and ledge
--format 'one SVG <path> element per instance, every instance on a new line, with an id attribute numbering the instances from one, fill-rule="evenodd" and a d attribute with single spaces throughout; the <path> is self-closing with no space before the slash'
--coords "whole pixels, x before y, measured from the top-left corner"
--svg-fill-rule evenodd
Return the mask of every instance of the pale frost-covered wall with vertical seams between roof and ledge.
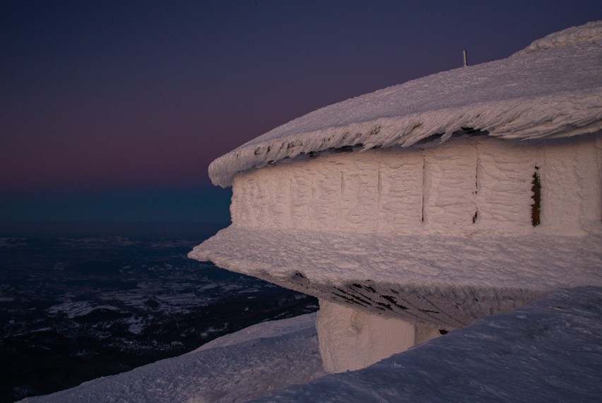
<path id="1" fill-rule="evenodd" d="M 534 195 L 535 177 L 541 196 Z M 601 194 L 601 134 L 473 136 L 432 148 L 325 153 L 240 173 L 231 213 L 245 228 L 584 235 L 601 220 Z"/>

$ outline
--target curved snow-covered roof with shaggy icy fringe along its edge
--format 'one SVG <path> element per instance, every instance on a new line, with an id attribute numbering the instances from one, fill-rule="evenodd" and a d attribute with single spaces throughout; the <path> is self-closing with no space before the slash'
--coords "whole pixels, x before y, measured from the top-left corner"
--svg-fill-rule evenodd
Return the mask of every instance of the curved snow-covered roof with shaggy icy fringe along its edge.
<path id="1" fill-rule="evenodd" d="M 602 129 L 602 21 L 553 33 L 507 59 L 444 71 L 299 117 L 217 158 L 213 184 L 302 153 L 412 146 L 466 128 L 503 139 Z"/>

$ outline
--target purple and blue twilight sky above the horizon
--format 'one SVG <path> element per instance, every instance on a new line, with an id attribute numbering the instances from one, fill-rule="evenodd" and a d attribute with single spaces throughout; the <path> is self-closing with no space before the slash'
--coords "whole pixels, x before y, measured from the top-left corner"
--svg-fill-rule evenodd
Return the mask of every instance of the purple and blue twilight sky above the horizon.
<path id="1" fill-rule="evenodd" d="M 596 1 L 0 1 L 0 221 L 220 221 L 214 158 Z"/>

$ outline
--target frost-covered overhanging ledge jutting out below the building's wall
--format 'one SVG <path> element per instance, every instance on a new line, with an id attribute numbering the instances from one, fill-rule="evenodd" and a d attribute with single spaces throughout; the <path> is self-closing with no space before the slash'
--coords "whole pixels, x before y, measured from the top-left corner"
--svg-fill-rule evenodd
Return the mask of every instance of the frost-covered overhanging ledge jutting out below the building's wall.
<path id="1" fill-rule="evenodd" d="M 383 235 L 230 226 L 189 257 L 379 315 L 461 327 L 554 288 L 602 286 L 601 244 L 599 234 Z"/>

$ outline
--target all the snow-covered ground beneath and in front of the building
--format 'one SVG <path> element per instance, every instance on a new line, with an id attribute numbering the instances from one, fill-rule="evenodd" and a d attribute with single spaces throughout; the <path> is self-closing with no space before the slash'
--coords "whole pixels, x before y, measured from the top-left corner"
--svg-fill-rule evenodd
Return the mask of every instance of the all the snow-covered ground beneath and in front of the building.
<path id="1" fill-rule="evenodd" d="M 597 402 L 602 395 L 599 287 L 557 289 L 364 370 L 321 378 L 314 321 L 310 314 L 255 325 L 184 356 L 26 401 Z"/>

